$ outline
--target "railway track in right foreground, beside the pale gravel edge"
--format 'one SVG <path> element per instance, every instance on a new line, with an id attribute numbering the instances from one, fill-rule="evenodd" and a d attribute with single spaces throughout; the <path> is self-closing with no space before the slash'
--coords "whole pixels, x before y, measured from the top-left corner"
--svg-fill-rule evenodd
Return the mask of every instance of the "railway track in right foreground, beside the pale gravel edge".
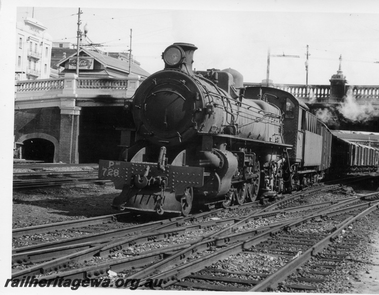
<path id="1" fill-rule="evenodd" d="M 378 206 L 379 202 L 376 201 L 345 208 L 329 207 L 317 214 L 284 222 L 231 245 L 215 244 L 215 249 L 209 248 L 200 257 L 192 258 L 189 255 L 187 262 L 180 266 L 168 267 L 160 262 L 159 266 L 155 264 L 150 269 L 143 269 L 128 278 L 163 279 L 165 283 L 162 288 L 175 286 L 214 291 L 263 292 L 275 291 L 280 285 L 281 289 L 278 291 L 316 290 L 317 287 L 313 284 L 323 282 L 319 276 L 328 275 L 325 269 L 336 267 L 336 263 L 341 263 L 347 256 L 346 252 L 340 254 L 339 250 L 353 249 L 356 244 L 347 238 L 346 244 L 341 245 L 344 240 L 340 237 L 341 233 Z M 323 220 L 331 216 L 338 218 Z M 323 251 L 329 245 L 333 247 Z M 227 267 L 225 270 L 228 260 L 241 261 L 240 269 L 248 268 L 250 271 L 228 271 Z M 248 265 L 246 261 L 249 261 Z M 309 261 L 311 266 L 307 269 L 311 270 L 296 274 L 288 283 L 283 283 L 290 274 Z M 235 275 L 246 278 L 236 278 Z M 250 278 L 252 276 L 253 279 Z M 219 284 L 215 285 L 215 281 Z M 230 287 L 230 283 L 234 286 Z"/>

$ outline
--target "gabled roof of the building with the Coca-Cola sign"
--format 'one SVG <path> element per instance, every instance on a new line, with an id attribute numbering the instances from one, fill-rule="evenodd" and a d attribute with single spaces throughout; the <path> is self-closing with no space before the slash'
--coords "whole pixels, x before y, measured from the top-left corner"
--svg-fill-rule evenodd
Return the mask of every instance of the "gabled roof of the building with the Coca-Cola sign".
<path id="1" fill-rule="evenodd" d="M 101 63 L 105 69 L 108 68 L 108 69 L 114 69 L 118 72 L 124 72 L 125 76 L 127 76 L 129 74 L 129 60 L 115 59 L 115 58 L 103 55 L 101 53 L 98 53 L 96 51 L 87 50 L 87 49 L 83 49 L 83 48 L 80 49 L 79 56 L 80 56 L 80 53 L 85 53 L 86 55 L 93 57 L 95 60 L 97 60 L 99 63 Z M 73 57 L 76 57 L 76 52 L 74 54 L 72 54 L 71 56 L 59 61 L 58 65 L 64 66 L 64 63 L 69 58 L 73 58 Z M 130 73 L 131 74 L 137 74 L 137 75 L 142 76 L 142 77 L 150 76 L 150 74 L 147 71 L 142 69 L 138 64 L 135 64 L 132 62 L 130 63 Z"/>

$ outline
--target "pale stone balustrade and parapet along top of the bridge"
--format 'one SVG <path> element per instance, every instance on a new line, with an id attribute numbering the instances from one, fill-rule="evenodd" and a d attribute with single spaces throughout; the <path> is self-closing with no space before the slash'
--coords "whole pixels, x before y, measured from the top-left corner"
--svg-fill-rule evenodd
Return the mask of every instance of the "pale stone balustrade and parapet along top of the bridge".
<path id="1" fill-rule="evenodd" d="M 15 109 L 66 106 L 63 101 L 67 98 L 76 100 L 71 104 L 72 107 L 102 104 L 123 106 L 124 99 L 131 98 L 143 80 L 133 77 L 77 78 L 74 74 L 66 74 L 64 78 L 18 81 Z M 266 84 L 244 83 L 244 86 L 266 86 Z M 344 85 L 343 95 L 333 94 L 332 85 L 269 84 L 268 86 L 287 91 L 309 104 L 339 105 L 346 95 L 351 95 L 357 104 L 371 103 L 375 109 L 379 109 L 379 86 Z M 101 100 L 94 100 L 100 97 Z M 109 101 L 104 100 L 107 97 Z"/>

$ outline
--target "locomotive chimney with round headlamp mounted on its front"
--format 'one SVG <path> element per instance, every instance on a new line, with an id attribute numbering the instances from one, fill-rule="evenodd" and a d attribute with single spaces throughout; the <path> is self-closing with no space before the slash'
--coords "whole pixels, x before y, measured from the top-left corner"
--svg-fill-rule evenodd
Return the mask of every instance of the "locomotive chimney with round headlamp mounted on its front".
<path id="1" fill-rule="evenodd" d="M 170 45 L 162 53 L 164 68 L 180 69 L 189 75 L 193 75 L 193 53 L 196 49 L 196 46 L 189 43 L 174 43 Z"/>

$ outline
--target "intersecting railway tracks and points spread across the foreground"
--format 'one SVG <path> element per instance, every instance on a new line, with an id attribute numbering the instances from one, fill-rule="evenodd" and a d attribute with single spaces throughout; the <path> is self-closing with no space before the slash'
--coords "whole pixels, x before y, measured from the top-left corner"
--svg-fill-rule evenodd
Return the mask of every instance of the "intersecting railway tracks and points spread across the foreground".
<path id="1" fill-rule="evenodd" d="M 108 247 L 110 240 L 99 241 L 97 243 L 97 246 L 91 248 L 91 251 L 81 250 L 81 252 L 83 253 L 82 258 L 79 258 L 79 256 L 77 256 L 76 254 L 75 257 L 77 258 L 74 258 L 72 254 L 62 252 L 59 254 L 59 256 L 51 256 L 50 259 L 55 259 L 50 262 L 43 262 L 43 259 L 41 260 L 40 258 L 38 258 L 39 260 L 37 259 L 36 261 L 32 262 L 32 265 L 28 265 L 28 262 L 24 262 L 26 264 L 25 266 L 28 266 L 27 268 L 24 268 L 25 270 L 22 270 L 23 268 L 20 268 L 25 267 L 23 266 L 23 264 L 19 264 L 18 266 L 16 264 L 13 266 L 15 268 L 14 277 L 16 277 L 16 275 L 18 275 L 18 277 L 22 277 L 24 275 L 33 274 L 39 278 L 45 279 L 53 279 L 57 276 L 62 276 L 63 279 L 66 279 L 68 277 L 95 279 L 96 277 L 103 278 L 105 276 L 109 277 L 109 279 L 112 282 L 115 281 L 116 278 L 119 278 L 119 275 L 122 274 L 123 277 L 130 279 L 138 277 L 139 279 L 141 279 L 140 285 L 142 285 L 144 281 L 143 279 L 148 279 L 150 277 L 155 278 L 154 275 L 149 276 L 149 273 L 151 273 L 152 271 L 148 270 L 149 267 L 155 270 L 160 269 L 159 267 L 162 267 L 162 269 L 168 267 L 169 269 L 171 269 L 170 276 L 168 276 L 168 278 L 171 278 L 173 277 L 173 275 L 171 274 L 175 271 L 175 267 L 172 268 L 173 265 L 172 263 L 170 263 L 171 259 L 172 262 L 175 261 L 175 264 L 178 264 L 178 260 L 175 259 L 175 257 L 183 257 L 179 260 L 179 262 L 183 260 L 183 269 L 185 269 L 185 265 L 189 263 L 190 265 L 188 265 L 188 267 L 190 266 L 189 268 L 192 269 L 192 271 L 190 272 L 193 272 L 193 269 L 196 269 L 193 267 L 195 263 L 198 262 L 201 265 L 201 269 L 199 269 L 199 272 L 193 274 L 189 273 L 188 275 L 184 276 L 183 279 L 180 279 L 181 276 L 174 275 L 174 277 L 177 279 L 176 281 L 164 279 L 162 288 L 173 290 L 221 290 L 221 288 L 224 288 L 225 290 L 230 289 L 232 291 L 248 291 L 253 288 L 261 288 L 259 287 L 261 286 L 259 284 L 263 284 L 263 281 L 261 282 L 261 280 L 265 277 L 269 278 L 270 273 L 261 273 L 258 269 L 256 269 L 255 271 L 250 270 L 246 272 L 246 274 L 244 275 L 242 271 L 238 272 L 236 270 L 226 269 L 225 265 L 237 266 L 238 261 L 243 259 L 243 257 L 245 257 L 246 255 L 249 256 L 249 259 L 251 259 L 251 264 L 253 264 L 254 262 L 256 265 L 255 267 L 257 268 L 259 267 L 258 262 L 261 261 L 261 258 L 264 257 L 264 255 L 266 255 L 267 257 L 271 257 L 271 259 L 273 258 L 274 261 L 277 257 L 279 257 L 281 259 L 279 261 L 282 262 L 288 260 L 289 258 L 292 259 L 296 255 L 299 256 L 300 253 L 299 250 L 295 249 L 297 243 L 293 242 L 294 238 L 295 240 L 300 241 L 300 244 L 303 244 L 303 248 L 301 248 L 301 245 L 299 244 L 300 249 L 304 249 L 305 245 L 307 244 L 306 242 L 301 243 L 301 238 L 299 236 L 300 234 L 294 234 L 296 231 L 308 233 L 306 235 L 301 235 L 303 236 L 303 238 L 308 239 L 308 241 L 316 242 L 319 241 L 320 238 L 326 236 L 318 236 L 317 228 L 324 228 L 324 231 L 334 233 L 335 231 L 337 231 L 337 228 L 341 228 L 341 222 L 347 219 L 346 217 L 337 217 L 337 220 L 339 221 L 331 221 L 334 220 L 334 217 L 326 218 L 326 214 L 336 214 L 335 216 L 341 216 L 342 214 L 343 216 L 343 214 L 350 214 L 342 213 L 343 210 L 345 210 L 346 208 L 348 208 L 348 210 L 363 210 L 363 208 L 367 208 L 369 206 L 376 206 L 375 202 L 377 201 L 364 201 L 365 199 L 368 199 L 368 196 L 356 195 L 354 193 L 352 193 L 352 195 L 349 196 L 339 194 L 338 192 L 343 191 L 346 186 L 317 186 L 314 188 L 314 191 L 308 189 L 304 192 L 298 192 L 292 196 L 284 196 L 282 198 L 278 198 L 278 200 L 272 202 L 272 204 L 260 204 L 259 202 L 256 202 L 255 204 L 251 204 L 250 206 L 244 204 L 243 206 L 233 206 L 227 209 L 219 209 L 216 210 L 214 214 L 212 214 L 211 212 L 200 212 L 197 216 L 193 215 L 188 216 L 187 218 L 177 217 L 175 220 L 170 221 L 163 219 L 164 221 L 158 226 L 158 230 L 154 230 L 154 228 L 145 228 L 145 238 L 141 234 L 137 235 L 138 237 L 136 236 L 135 238 L 133 238 L 133 235 L 128 235 L 124 238 L 121 238 L 120 236 L 114 237 L 111 238 L 111 240 L 113 240 L 113 244 L 111 244 L 111 247 Z M 316 203 L 315 197 L 321 195 L 324 196 L 324 198 L 330 198 L 330 200 L 328 202 L 325 202 L 324 204 Z M 305 202 L 308 204 L 304 204 Z M 359 208 L 353 208 L 354 204 L 358 204 L 357 206 L 359 206 Z M 240 209 L 238 209 L 238 207 L 240 207 Z M 333 207 L 340 208 L 334 209 Z M 250 210 L 250 213 L 247 213 L 247 210 Z M 326 213 L 327 211 L 332 210 L 334 211 Z M 226 216 L 230 216 L 232 212 L 234 212 L 236 215 L 234 218 L 229 218 L 229 220 L 224 219 Z M 129 213 L 125 214 L 127 216 Z M 246 220 L 246 223 L 241 222 L 249 214 L 251 216 Z M 306 215 L 308 217 L 306 217 Z M 259 219 L 257 219 L 258 216 L 260 216 Z M 120 215 L 120 217 L 122 216 Z M 108 218 L 111 218 L 112 220 L 118 219 L 112 217 Z M 320 220 L 324 220 L 325 218 L 326 220 L 331 218 L 331 220 L 327 221 L 329 226 L 325 226 L 325 223 L 322 223 L 322 226 L 320 227 L 320 222 L 322 222 Z M 124 220 L 125 222 L 125 220 L 127 220 L 127 217 L 126 219 L 119 219 Z M 183 220 L 181 221 L 181 219 Z M 350 217 L 348 218 L 348 221 L 351 222 Z M 96 230 L 95 220 L 93 222 L 94 230 Z M 198 223 L 198 225 L 201 226 L 196 226 L 196 223 Z M 171 226 L 169 224 L 175 225 L 175 229 L 170 229 Z M 312 225 L 309 226 L 308 224 Z M 107 223 L 103 224 L 103 228 L 98 228 L 97 230 L 101 231 L 106 229 L 106 225 Z M 225 231 L 225 229 L 228 226 L 232 228 L 234 226 L 235 228 L 231 231 Z M 291 228 L 292 226 L 296 227 Z M 300 230 L 302 226 L 306 226 L 308 230 Z M 63 228 L 69 227 L 69 225 L 63 225 Z M 180 228 L 183 227 L 186 228 L 186 230 L 181 231 Z M 278 228 L 281 227 L 283 228 L 283 230 L 279 231 Z M 344 228 L 346 227 L 348 226 L 344 225 Z M 77 229 L 77 226 L 74 225 L 74 229 Z M 224 230 L 223 233 L 220 232 L 222 230 Z M 310 234 L 309 231 L 312 231 L 313 234 Z M 53 230 L 50 232 L 53 232 Z M 141 231 L 138 230 L 136 230 L 136 232 L 141 233 Z M 201 235 L 199 235 L 200 232 Z M 218 236 L 217 233 L 221 233 L 220 236 Z M 267 236 L 267 233 L 270 234 L 268 234 Z M 265 237 L 260 241 L 260 243 L 265 243 L 267 241 L 270 241 L 270 239 L 272 239 L 273 241 L 279 240 L 279 236 L 283 236 L 283 239 L 287 240 L 288 245 L 284 245 L 284 249 L 274 250 L 273 246 L 260 246 L 259 244 L 253 246 L 253 248 L 248 247 L 250 239 L 262 239 L 262 237 Z M 337 239 L 338 238 L 339 237 L 337 237 Z M 124 241 L 129 240 L 130 243 L 123 243 L 120 239 L 124 239 Z M 230 250 L 231 252 L 227 252 L 228 250 L 225 250 L 225 248 L 234 248 L 232 246 L 236 246 L 238 243 L 241 243 L 241 241 L 244 245 L 241 251 L 234 254 L 233 257 L 236 257 L 235 259 L 229 258 L 230 254 L 235 250 Z M 194 242 L 196 246 L 193 246 Z M 91 242 L 91 244 L 94 245 L 94 241 Z M 283 243 L 281 242 L 279 244 Z M 358 245 L 359 241 L 355 241 L 355 244 Z M 353 246 L 354 245 L 352 244 L 351 247 Z M 196 249 L 196 251 L 191 251 L 191 247 L 193 249 Z M 238 246 L 236 247 L 238 248 Z M 69 247 L 66 248 L 68 249 Z M 106 249 L 109 248 L 113 250 L 107 251 Z M 227 259 L 223 258 L 225 256 L 222 256 L 221 254 L 221 256 L 218 256 L 219 254 L 216 254 L 216 252 L 219 251 L 219 249 L 226 251 L 225 253 L 227 253 L 227 255 L 225 255 L 230 260 L 230 263 L 227 263 Z M 279 252 L 275 253 L 275 251 Z M 95 255 L 95 253 L 99 253 L 100 256 L 96 258 L 97 255 Z M 25 254 L 27 254 L 26 256 L 28 256 L 28 252 L 25 252 Z M 29 252 L 29 254 L 33 254 L 33 251 Z M 86 256 L 87 254 L 93 258 L 91 259 L 91 257 Z M 17 258 L 17 255 L 19 254 L 15 254 L 15 258 Z M 208 260 L 210 259 L 209 257 L 212 257 L 212 259 Z M 99 258 L 101 259 L 99 260 Z M 75 266 L 72 264 L 73 261 L 71 259 L 76 261 L 74 264 Z M 336 260 L 335 258 L 333 259 Z M 341 259 L 341 257 L 339 259 Z M 246 261 L 246 258 L 243 260 Z M 151 265 L 152 261 L 157 261 L 157 263 Z M 311 268 L 315 268 L 317 265 L 322 264 L 323 263 L 321 263 L 320 261 L 318 261 L 317 263 L 315 262 L 314 266 L 311 266 Z M 219 265 L 224 265 L 224 267 L 219 268 Z M 304 267 L 307 266 L 306 263 L 304 263 L 304 265 Z M 244 267 L 245 269 L 247 269 L 247 266 Z M 333 267 L 336 268 L 339 266 L 336 265 Z M 135 270 L 133 270 L 133 268 Z M 271 268 L 269 266 L 265 266 L 265 269 Z M 186 271 L 184 271 L 183 269 L 180 271 L 181 274 L 186 273 Z M 272 269 L 276 268 L 274 267 Z M 109 270 L 116 272 L 118 276 L 108 276 Z M 306 273 L 312 273 L 312 271 L 316 273 L 324 272 L 324 277 L 328 273 L 327 270 L 310 270 Z M 239 274 L 237 275 L 234 272 L 237 272 Z M 164 274 L 165 272 L 162 273 Z M 256 279 L 259 274 L 261 275 L 261 279 Z M 296 275 L 296 272 L 294 275 Z M 212 278 L 210 278 L 210 276 L 212 276 Z M 271 282 L 272 279 L 269 279 L 269 281 Z M 318 286 L 323 284 L 323 282 L 321 282 L 321 280 L 319 279 L 309 279 L 308 281 L 303 281 L 302 283 L 299 283 L 299 281 L 301 280 L 294 281 L 294 279 L 289 278 L 288 284 L 283 285 L 284 279 L 281 278 L 280 284 L 278 285 L 279 287 L 275 287 L 279 289 L 273 290 L 319 290 L 317 289 L 319 288 Z M 312 283 L 309 283 L 309 281 L 313 281 L 314 285 L 312 285 Z M 327 280 L 324 281 L 327 282 Z M 269 288 L 274 288 L 273 286 L 274 284 L 270 283 Z"/>

